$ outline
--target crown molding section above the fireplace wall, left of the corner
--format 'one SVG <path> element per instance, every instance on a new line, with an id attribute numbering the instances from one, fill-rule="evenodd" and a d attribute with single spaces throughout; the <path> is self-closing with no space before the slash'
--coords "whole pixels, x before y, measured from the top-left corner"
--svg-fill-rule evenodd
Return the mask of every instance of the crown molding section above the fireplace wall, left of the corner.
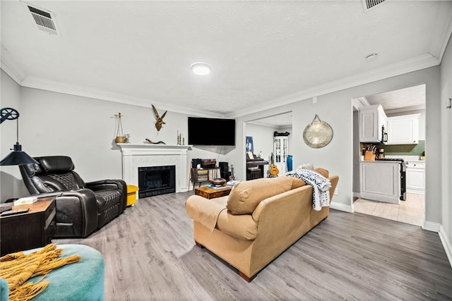
<path id="1" fill-rule="evenodd" d="M 54 80 L 47 80 L 44 78 L 36 78 L 27 76 L 21 82 L 22 87 L 30 87 L 40 90 L 47 90 L 52 92 L 59 92 L 64 94 L 71 94 L 81 97 L 89 97 L 93 99 L 101 99 L 108 102 L 117 102 L 119 104 L 129 104 L 132 106 L 142 106 L 150 108 L 151 104 L 159 106 L 159 109 L 172 111 L 174 113 L 183 113 L 191 116 L 214 116 L 215 114 L 209 111 L 202 111 L 182 106 L 174 106 L 168 103 L 156 102 L 141 97 L 133 97 L 117 92 L 108 92 L 104 90 L 97 90 L 90 87 L 83 87 L 79 85 L 66 84 L 64 82 L 57 82 Z M 220 115 L 216 115 L 220 117 Z"/>

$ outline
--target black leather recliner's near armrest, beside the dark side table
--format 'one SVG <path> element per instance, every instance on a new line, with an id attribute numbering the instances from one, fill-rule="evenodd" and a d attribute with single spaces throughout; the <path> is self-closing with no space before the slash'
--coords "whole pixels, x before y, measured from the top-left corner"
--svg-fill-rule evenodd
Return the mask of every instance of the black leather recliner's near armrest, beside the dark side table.
<path id="1" fill-rule="evenodd" d="M 89 189 L 60 192 L 56 200 L 58 237 L 90 235 L 97 229 L 97 200 Z M 61 229 L 70 228 L 73 233 Z"/>

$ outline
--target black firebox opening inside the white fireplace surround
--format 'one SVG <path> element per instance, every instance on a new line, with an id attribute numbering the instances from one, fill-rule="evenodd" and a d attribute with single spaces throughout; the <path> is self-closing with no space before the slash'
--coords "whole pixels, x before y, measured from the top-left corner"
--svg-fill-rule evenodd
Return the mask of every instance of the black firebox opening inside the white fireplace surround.
<path id="1" fill-rule="evenodd" d="M 176 192 L 176 166 L 138 167 L 138 198 Z"/>

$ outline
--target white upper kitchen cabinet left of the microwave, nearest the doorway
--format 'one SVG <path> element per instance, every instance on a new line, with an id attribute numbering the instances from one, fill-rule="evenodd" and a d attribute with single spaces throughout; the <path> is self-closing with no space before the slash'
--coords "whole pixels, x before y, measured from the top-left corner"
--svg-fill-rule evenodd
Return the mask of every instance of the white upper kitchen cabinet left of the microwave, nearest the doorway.
<path id="1" fill-rule="evenodd" d="M 383 140 L 386 113 L 381 104 L 359 108 L 359 142 L 376 143 Z"/>

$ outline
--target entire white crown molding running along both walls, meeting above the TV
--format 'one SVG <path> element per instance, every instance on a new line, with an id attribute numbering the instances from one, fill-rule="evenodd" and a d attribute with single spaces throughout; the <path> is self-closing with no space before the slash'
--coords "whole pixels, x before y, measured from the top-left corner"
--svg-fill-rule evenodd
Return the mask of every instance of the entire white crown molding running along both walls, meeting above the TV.
<path id="1" fill-rule="evenodd" d="M 40 90 L 48 90 L 53 92 L 59 92 L 64 94 L 77 95 L 81 97 L 90 97 L 93 99 L 101 99 L 109 102 L 117 102 L 121 104 L 130 104 L 133 106 L 142 106 L 148 108 L 150 104 L 154 104 L 160 107 L 160 109 L 169 110 L 175 113 L 182 113 L 191 116 L 210 116 L 218 118 L 237 118 L 240 116 L 249 115 L 251 113 L 257 113 L 269 109 L 274 109 L 278 106 L 286 104 L 292 104 L 304 99 L 310 99 L 311 97 L 318 97 L 319 95 L 344 90 L 350 87 L 356 87 L 358 85 L 364 85 L 369 82 L 377 80 L 383 80 L 385 78 L 391 78 L 396 75 L 402 75 L 424 68 L 429 68 L 439 65 L 439 60 L 432 56 L 432 54 L 424 54 L 412 59 L 400 61 L 389 66 L 376 68 L 366 73 L 359 73 L 347 78 L 328 82 L 323 85 L 311 87 L 306 90 L 302 90 L 296 93 L 279 97 L 278 99 L 272 99 L 268 102 L 263 102 L 256 109 L 246 108 L 240 112 L 234 112 L 230 114 L 219 114 L 210 111 L 193 109 L 186 106 L 174 106 L 168 103 L 150 101 L 141 97 L 132 97 L 130 95 L 108 92 L 104 90 L 96 90 L 90 87 L 83 87 L 78 85 L 66 84 L 63 82 L 57 82 L 54 80 L 47 80 L 44 78 L 36 78 L 33 76 L 27 76 L 25 72 L 18 67 L 18 65 L 11 59 L 8 51 L 1 47 L 1 69 L 3 69 L 18 85 L 22 87 L 31 87 Z"/>

